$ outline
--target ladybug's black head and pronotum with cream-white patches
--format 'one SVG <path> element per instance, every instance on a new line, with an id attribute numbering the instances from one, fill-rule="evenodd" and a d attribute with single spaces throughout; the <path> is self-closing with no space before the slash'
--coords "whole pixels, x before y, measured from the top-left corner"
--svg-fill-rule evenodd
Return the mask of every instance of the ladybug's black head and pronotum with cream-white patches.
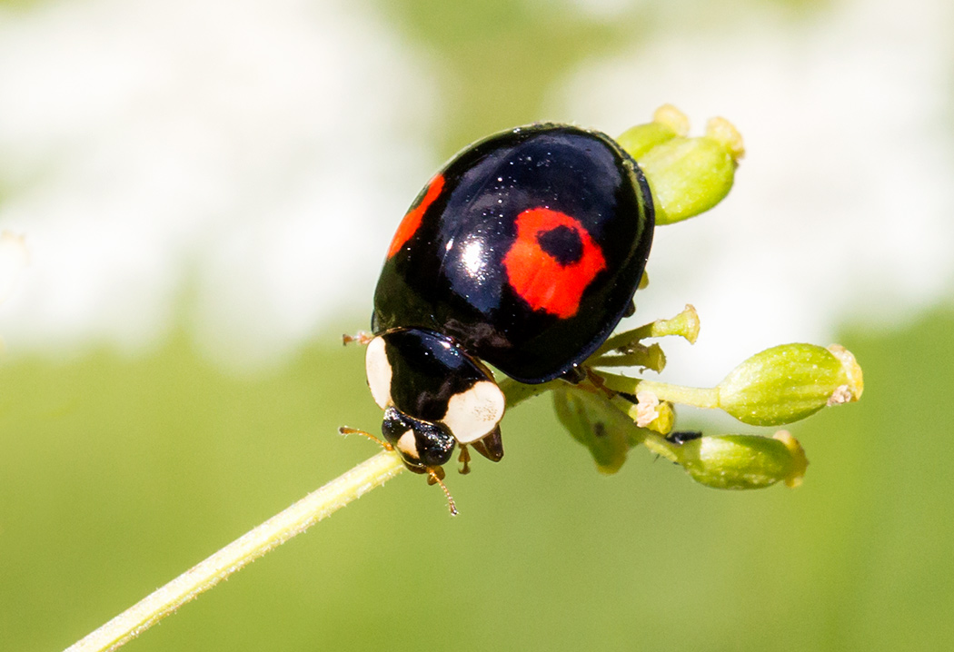
<path id="1" fill-rule="evenodd" d="M 449 337 L 424 329 L 386 331 L 368 343 L 365 366 L 371 395 L 384 409 L 382 434 L 407 466 L 441 466 L 457 442 L 488 448 L 491 459 L 503 455 L 497 424 L 504 394 Z"/>

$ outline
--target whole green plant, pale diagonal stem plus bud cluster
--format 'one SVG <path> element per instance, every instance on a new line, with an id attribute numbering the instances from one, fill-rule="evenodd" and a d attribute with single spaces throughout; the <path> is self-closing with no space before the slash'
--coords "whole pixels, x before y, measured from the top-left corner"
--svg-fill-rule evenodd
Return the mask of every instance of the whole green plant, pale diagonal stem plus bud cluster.
<path id="1" fill-rule="evenodd" d="M 657 224 L 666 225 L 715 206 L 733 185 L 742 143 L 727 121 L 716 118 L 705 135 L 687 135 L 688 121 L 672 107 L 653 122 L 634 127 L 619 142 L 640 161 L 653 190 Z M 692 479 L 722 489 L 752 489 L 784 481 L 797 486 L 807 460 L 785 431 L 773 437 L 674 432 L 674 405 L 721 409 L 758 426 L 778 426 L 806 418 L 823 407 L 857 400 L 863 382 L 854 357 L 839 346 L 810 344 L 773 347 L 742 362 L 714 388 L 671 385 L 609 370 L 638 367 L 659 372 L 665 355 L 644 340 L 698 334 L 695 309 L 612 336 L 583 365 L 577 384 L 554 380 L 525 385 L 500 383 L 512 409 L 530 397 L 550 393 L 556 413 L 573 438 L 584 444 L 597 467 L 615 472 L 633 447 L 681 465 Z M 384 450 L 318 491 L 259 525 L 197 564 L 143 601 L 75 643 L 70 650 L 109 650 L 134 638 L 178 606 L 258 559 L 285 540 L 329 516 L 353 499 L 404 471 L 401 458 Z"/>

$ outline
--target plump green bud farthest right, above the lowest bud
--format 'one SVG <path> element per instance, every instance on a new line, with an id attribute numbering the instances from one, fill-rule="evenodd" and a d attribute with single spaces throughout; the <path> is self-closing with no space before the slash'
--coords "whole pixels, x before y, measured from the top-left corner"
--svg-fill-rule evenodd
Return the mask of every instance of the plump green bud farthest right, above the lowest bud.
<path id="1" fill-rule="evenodd" d="M 783 344 L 738 365 L 716 387 L 718 407 L 752 425 L 780 425 L 858 400 L 861 367 L 842 347 Z"/>

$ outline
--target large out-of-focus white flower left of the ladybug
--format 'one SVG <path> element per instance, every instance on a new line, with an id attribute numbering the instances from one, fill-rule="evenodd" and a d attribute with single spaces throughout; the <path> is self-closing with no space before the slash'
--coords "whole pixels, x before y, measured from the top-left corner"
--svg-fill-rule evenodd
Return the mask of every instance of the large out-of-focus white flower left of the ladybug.
<path id="1" fill-rule="evenodd" d="M 30 233 L 34 263 L 0 323 L 12 352 L 135 351 L 184 309 L 215 357 L 278 360 L 342 306 L 351 320 L 356 288 L 369 314 L 378 258 L 355 261 L 384 252 L 431 172 L 437 102 L 377 15 L 334 0 L 0 11 L 0 225 Z"/>

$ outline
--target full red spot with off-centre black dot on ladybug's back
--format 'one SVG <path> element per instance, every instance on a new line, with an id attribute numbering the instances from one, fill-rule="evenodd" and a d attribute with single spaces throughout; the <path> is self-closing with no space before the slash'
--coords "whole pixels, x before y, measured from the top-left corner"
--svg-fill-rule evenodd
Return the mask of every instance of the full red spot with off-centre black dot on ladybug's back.
<path id="1" fill-rule="evenodd" d="M 533 310 L 566 319 L 576 315 L 580 299 L 597 274 L 606 269 L 603 252 L 579 220 L 545 208 L 517 215 L 517 239 L 504 257 L 508 281 Z M 540 236 L 565 227 L 575 232 L 582 253 L 562 264 L 540 244 Z"/>

